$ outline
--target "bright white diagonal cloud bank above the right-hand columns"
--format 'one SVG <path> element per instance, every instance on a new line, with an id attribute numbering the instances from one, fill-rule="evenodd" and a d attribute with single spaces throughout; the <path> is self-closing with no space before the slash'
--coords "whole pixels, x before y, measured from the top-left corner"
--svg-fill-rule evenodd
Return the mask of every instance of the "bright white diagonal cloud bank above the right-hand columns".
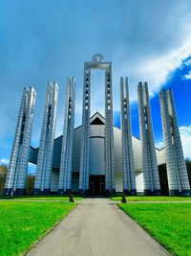
<path id="1" fill-rule="evenodd" d="M 118 66 L 117 80 L 121 75 L 129 74 L 131 102 L 138 100 L 138 81 L 148 81 L 151 96 L 159 93 L 160 87 L 182 65 L 183 59 L 191 55 L 190 42 L 191 36 L 188 36 L 179 47 L 169 50 L 168 53 L 164 52 L 159 56 L 148 55 L 142 59 L 139 58 L 139 61 L 135 63 L 136 67 L 131 66 L 128 62 Z M 186 64 L 188 65 L 188 61 Z M 185 75 L 185 79 L 191 79 L 191 73 Z"/>

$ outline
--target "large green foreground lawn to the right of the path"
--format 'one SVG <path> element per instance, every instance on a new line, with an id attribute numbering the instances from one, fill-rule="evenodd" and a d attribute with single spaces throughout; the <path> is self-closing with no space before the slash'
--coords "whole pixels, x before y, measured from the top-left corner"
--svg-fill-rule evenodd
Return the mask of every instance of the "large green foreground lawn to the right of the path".
<path id="1" fill-rule="evenodd" d="M 191 203 L 119 203 L 173 255 L 191 255 Z"/>

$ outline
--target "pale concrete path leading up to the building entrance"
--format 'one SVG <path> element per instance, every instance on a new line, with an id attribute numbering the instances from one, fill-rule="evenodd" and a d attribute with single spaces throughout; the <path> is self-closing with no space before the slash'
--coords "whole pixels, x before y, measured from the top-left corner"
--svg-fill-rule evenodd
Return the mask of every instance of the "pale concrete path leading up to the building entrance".
<path id="1" fill-rule="evenodd" d="M 162 256 L 169 253 L 112 200 L 86 198 L 27 256 Z"/>

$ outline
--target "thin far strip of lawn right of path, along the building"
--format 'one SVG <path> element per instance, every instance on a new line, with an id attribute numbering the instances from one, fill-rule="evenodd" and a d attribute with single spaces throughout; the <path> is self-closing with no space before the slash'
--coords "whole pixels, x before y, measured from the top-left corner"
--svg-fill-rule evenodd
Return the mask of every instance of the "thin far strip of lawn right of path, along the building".
<path id="1" fill-rule="evenodd" d="M 144 197 L 144 196 L 136 196 L 136 197 L 126 197 L 128 201 L 186 201 L 191 198 L 183 198 L 183 197 Z M 111 197 L 112 200 L 121 200 L 121 196 Z"/>

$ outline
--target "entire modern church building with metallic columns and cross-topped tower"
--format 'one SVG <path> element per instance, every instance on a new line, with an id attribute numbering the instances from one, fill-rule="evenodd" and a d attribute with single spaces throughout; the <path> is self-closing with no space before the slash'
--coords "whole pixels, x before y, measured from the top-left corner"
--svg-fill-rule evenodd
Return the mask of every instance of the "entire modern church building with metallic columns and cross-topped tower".
<path id="1" fill-rule="evenodd" d="M 105 117 L 98 112 L 90 116 L 93 69 L 103 69 L 105 72 Z M 114 126 L 112 62 L 105 61 L 102 55 L 95 55 L 92 61 L 84 64 L 82 125 L 77 128 L 74 128 L 75 80 L 67 78 L 63 135 L 54 139 L 57 91 L 56 83 L 48 84 L 39 148 L 30 147 L 32 126 L 26 129 L 28 144 L 25 159 L 27 157 L 29 162 L 37 165 L 35 194 L 64 194 L 73 191 L 190 196 L 171 90 L 166 92 L 163 89 L 160 93 L 165 142 L 165 148 L 161 150 L 155 147 L 146 82 L 138 83 L 140 139 L 132 136 L 127 78 L 120 78 L 121 129 Z M 20 120 L 19 112 L 18 124 Z M 20 129 L 16 128 L 14 140 L 20 141 L 20 134 Z M 17 144 L 14 142 L 12 146 L 5 195 L 24 194 L 26 189 L 27 165 L 22 168 L 16 165 L 15 168 L 13 162 L 19 163 L 20 159 Z M 17 176 L 21 175 L 22 190 L 19 190 L 19 185 L 15 184 L 18 183 Z"/>

